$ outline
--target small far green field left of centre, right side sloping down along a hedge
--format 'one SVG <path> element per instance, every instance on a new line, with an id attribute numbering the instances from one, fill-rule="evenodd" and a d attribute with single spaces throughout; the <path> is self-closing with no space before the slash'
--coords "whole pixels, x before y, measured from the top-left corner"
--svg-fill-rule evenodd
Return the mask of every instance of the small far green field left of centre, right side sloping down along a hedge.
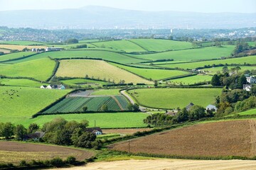
<path id="1" fill-rule="evenodd" d="M 124 52 L 144 52 L 142 47 L 134 44 L 128 40 L 113 40 L 113 41 L 105 41 L 105 42 L 93 42 L 93 45 L 97 47 L 106 47 L 115 50 L 122 50 Z"/>

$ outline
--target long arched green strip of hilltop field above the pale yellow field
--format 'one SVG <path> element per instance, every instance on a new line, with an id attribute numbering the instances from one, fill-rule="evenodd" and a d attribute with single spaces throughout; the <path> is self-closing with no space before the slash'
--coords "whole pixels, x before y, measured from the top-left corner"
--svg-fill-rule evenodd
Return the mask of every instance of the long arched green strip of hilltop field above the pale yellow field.
<path id="1" fill-rule="evenodd" d="M 131 64 L 131 63 L 137 63 L 137 62 L 145 62 L 146 60 L 143 59 L 137 59 L 128 57 L 127 55 L 122 55 L 118 52 L 110 52 L 110 51 L 104 51 L 104 50 L 63 50 L 63 51 L 57 51 L 57 52 L 43 52 L 38 55 L 34 55 L 33 57 L 26 58 L 24 60 L 18 60 L 12 63 L 16 62 L 26 62 L 28 60 L 36 60 L 39 58 L 44 57 L 53 57 L 53 58 L 95 58 L 95 59 L 103 59 L 108 60 L 112 62 L 118 62 L 122 64 Z"/>

